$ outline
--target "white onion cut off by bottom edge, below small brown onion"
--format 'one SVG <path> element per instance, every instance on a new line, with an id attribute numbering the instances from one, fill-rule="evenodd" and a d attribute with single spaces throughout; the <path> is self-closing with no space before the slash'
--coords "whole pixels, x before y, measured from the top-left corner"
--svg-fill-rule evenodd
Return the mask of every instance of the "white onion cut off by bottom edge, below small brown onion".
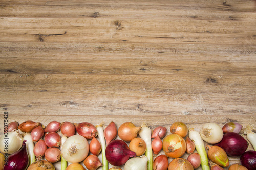
<path id="1" fill-rule="evenodd" d="M 143 155 L 141 158 L 131 158 L 125 163 L 124 170 L 134 169 L 147 170 L 147 157 L 145 155 Z"/>

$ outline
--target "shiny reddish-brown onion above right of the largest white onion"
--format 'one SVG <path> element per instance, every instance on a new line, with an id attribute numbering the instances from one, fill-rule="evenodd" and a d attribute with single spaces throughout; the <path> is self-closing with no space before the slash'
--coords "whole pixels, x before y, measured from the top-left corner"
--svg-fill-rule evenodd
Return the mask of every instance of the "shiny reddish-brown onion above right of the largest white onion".
<path id="1" fill-rule="evenodd" d="M 79 124 L 74 123 L 76 131 L 79 135 L 85 137 L 86 139 L 92 139 L 93 136 L 97 137 L 98 131 L 95 126 L 89 122 L 82 122 Z"/>

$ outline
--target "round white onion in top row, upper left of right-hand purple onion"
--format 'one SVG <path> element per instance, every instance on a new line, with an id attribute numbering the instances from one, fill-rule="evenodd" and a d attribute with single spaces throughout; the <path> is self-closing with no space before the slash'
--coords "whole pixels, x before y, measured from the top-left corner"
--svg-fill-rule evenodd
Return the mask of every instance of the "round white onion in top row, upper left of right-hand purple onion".
<path id="1" fill-rule="evenodd" d="M 203 125 L 200 135 L 207 143 L 215 144 L 223 138 L 223 131 L 219 125 L 210 122 Z"/>

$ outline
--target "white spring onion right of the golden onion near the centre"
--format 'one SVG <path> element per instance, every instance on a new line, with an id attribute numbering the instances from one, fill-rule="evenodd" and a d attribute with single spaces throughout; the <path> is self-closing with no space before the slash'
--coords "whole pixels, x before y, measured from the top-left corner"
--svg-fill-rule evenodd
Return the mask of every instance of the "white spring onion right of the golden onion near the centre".
<path id="1" fill-rule="evenodd" d="M 141 125 L 141 130 L 139 131 L 140 137 L 146 142 L 146 157 L 147 161 L 147 170 L 153 169 L 153 154 L 151 146 L 151 129 L 148 128 L 145 124 Z"/>

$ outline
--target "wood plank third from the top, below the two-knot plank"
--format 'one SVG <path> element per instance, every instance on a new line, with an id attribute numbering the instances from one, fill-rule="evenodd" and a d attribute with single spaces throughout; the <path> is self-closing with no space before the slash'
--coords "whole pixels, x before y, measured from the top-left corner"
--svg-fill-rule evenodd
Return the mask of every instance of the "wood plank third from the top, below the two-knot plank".
<path id="1" fill-rule="evenodd" d="M 0 72 L 255 75 L 255 45 L 0 42 Z M 228 54 L 228 55 L 227 55 Z"/>

